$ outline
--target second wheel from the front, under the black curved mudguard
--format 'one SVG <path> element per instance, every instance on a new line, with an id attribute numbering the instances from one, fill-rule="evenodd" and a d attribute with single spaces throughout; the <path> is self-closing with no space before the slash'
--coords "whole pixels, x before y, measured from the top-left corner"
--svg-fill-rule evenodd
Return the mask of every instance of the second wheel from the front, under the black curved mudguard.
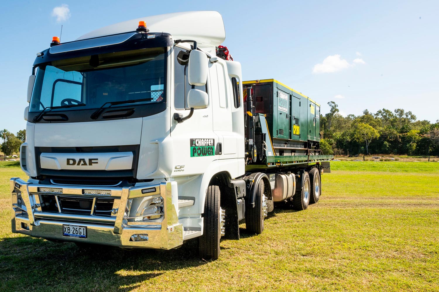
<path id="1" fill-rule="evenodd" d="M 268 199 L 264 193 L 264 182 L 261 179 L 255 198 L 255 207 L 245 210 L 245 228 L 251 233 L 261 234 L 264 230 L 264 219 L 268 214 Z"/>

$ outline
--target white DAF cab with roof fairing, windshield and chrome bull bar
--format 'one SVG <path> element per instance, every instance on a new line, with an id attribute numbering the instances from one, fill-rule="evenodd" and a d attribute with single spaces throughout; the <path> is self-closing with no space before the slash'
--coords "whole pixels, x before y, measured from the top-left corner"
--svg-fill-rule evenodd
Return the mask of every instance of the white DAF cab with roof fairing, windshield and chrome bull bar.
<path id="1" fill-rule="evenodd" d="M 13 231 L 160 249 L 202 235 L 212 178 L 245 173 L 241 65 L 216 57 L 224 38 L 218 12 L 196 11 L 38 53 Z"/>

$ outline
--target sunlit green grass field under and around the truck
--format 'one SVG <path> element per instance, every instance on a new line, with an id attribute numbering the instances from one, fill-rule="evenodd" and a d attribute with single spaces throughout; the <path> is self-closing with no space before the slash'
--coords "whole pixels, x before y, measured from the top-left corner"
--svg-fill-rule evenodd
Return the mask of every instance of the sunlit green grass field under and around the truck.
<path id="1" fill-rule="evenodd" d="M 331 163 L 320 202 L 276 208 L 219 260 L 180 249 L 97 249 L 12 234 L 0 164 L 0 291 L 439 291 L 439 163 Z"/>

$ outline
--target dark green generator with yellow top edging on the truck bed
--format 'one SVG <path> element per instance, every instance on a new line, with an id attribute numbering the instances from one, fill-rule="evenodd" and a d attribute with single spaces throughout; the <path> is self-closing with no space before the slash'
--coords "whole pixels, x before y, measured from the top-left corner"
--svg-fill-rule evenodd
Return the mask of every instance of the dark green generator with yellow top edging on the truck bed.
<path id="1" fill-rule="evenodd" d="M 299 157 L 308 161 L 310 156 L 316 160 L 322 156 L 320 104 L 275 79 L 245 81 L 243 87 L 246 121 L 254 120 L 253 130 L 251 122 L 245 123 L 247 164 L 268 166 L 272 160 L 296 164 L 303 161 Z"/>

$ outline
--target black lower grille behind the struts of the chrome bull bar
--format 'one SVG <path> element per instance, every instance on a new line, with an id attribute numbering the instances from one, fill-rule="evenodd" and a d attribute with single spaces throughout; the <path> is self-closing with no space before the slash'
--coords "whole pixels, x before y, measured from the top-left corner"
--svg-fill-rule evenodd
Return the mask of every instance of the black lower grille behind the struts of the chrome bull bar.
<path id="1" fill-rule="evenodd" d="M 61 213 L 79 215 L 111 216 L 114 203 L 114 198 L 96 197 L 94 199 L 85 196 L 43 195 L 42 199 L 43 211 L 58 212 L 58 199 Z"/>

